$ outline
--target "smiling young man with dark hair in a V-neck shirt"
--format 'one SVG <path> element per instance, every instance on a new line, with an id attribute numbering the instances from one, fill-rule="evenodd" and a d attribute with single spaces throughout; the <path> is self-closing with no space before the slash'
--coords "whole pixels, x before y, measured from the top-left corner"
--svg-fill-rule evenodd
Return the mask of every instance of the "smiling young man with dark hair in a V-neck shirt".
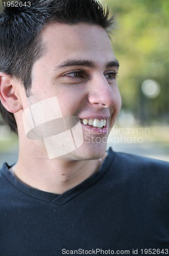
<path id="1" fill-rule="evenodd" d="M 19 137 L 1 169 L 0 254 L 167 254 L 169 163 L 106 153 L 121 108 L 113 18 L 96 0 L 20 3 L 0 20 L 1 114 Z"/>

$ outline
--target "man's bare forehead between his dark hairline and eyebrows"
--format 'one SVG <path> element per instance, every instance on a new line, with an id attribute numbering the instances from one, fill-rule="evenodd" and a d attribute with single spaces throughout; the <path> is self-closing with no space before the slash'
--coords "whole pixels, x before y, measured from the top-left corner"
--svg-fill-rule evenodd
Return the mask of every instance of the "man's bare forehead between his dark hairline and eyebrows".
<path id="1" fill-rule="evenodd" d="M 44 28 L 42 40 L 46 47 L 44 57 L 50 63 L 79 57 L 102 62 L 115 58 L 106 31 L 96 25 L 50 24 Z"/>

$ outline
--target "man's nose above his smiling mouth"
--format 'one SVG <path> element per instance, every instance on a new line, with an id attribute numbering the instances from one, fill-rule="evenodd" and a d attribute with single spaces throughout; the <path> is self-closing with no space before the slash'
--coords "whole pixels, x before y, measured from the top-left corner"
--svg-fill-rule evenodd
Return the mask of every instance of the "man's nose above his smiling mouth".
<path id="1" fill-rule="evenodd" d="M 109 84 L 103 76 L 97 77 L 90 81 L 90 89 L 88 94 L 89 102 L 96 108 L 108 108 L 116 102 L 117 82 Z"/>

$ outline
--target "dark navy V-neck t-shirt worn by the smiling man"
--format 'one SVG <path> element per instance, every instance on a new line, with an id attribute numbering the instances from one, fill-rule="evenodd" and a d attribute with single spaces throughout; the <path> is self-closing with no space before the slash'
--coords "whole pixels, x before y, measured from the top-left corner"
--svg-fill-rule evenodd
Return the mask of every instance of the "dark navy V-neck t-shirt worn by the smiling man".
<path id="1" fill-rule="evenodd" d="M 27 187 L 8 168 L 1 256 L 169 254 L 168 162 L 109 149 L 99 172 L 62 195 Z"/>

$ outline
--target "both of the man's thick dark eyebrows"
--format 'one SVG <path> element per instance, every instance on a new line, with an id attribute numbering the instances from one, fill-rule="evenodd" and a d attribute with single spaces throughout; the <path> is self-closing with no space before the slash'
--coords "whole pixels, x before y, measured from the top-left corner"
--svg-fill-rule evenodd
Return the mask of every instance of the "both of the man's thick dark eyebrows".
<path id="1" fill-rule="evenodd" d="M 88 68 L 95 68 L 96 63 L 93 60 L 76 60 L 76 59 L 68 59 L 61 63 L 59 66 L 55 67 L 54 70 L 63 69 L 66 67 L 72 67 L 72 66 L 82 66 L 82 67 L 88 67 Z M 117 67 L 119 68 L 119 61 L 117 59 L 109 61 L 105 65 L 106 69 Z"/>

